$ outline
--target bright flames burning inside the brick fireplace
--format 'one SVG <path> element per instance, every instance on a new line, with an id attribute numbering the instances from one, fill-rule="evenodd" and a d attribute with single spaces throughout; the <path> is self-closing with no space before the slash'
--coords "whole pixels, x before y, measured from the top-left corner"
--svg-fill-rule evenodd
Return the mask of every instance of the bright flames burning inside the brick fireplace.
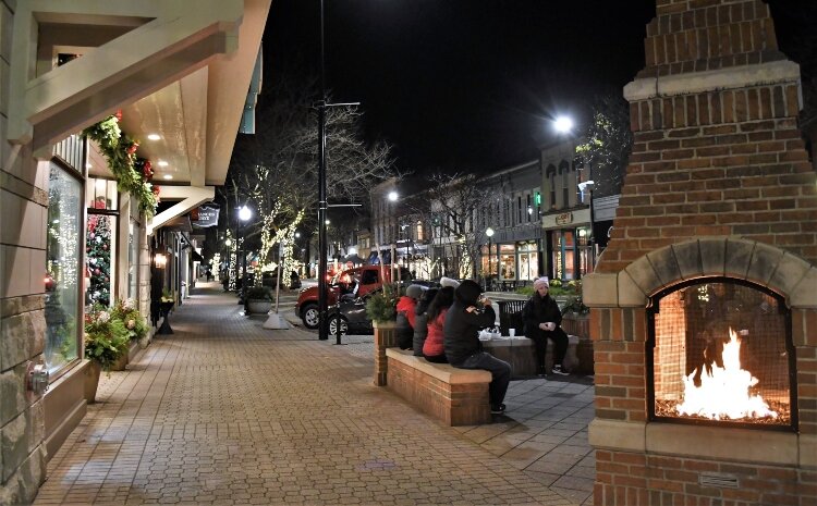
<path id="1" fill-rule="evenodd" d="M 683 378 L 684 402 L 676 406 L 679 415 L 697 415 L 712 420 L 741 418 L 777 418 L 778 414 L 749 388 L 757 378 L 741 368 L 741 340 L 729 329 L 729 343 L 723 345 L 723 367 L 712 363 L 712 372 L 700 374 L 700 386 L 695 386 L 695 371 Z M 703 365 L 700 366 L 704 367 Z"/>

